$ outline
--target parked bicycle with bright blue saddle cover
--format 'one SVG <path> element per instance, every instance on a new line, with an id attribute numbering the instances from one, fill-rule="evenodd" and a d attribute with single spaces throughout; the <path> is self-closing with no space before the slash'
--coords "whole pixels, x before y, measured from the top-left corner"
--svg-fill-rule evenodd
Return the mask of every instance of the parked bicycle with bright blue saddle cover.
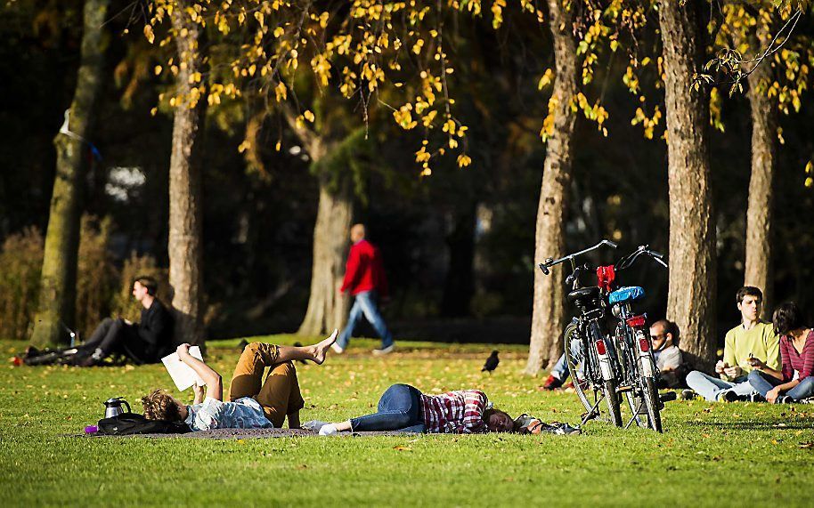
<path id="1" fill-rule="evenodd" d="M 647 255 L 667 268 L 663 254 L 651 251 L 647 247 L 639 246 L 613 266 L 600 267 L 602 275 L 599 278 L 600 284 L 609 291 L 607 302 L 611 307 L 611 313 L 619 319 L 614 334 L 619 367 L 618 391 L 624 393 L 631 409 L 631 419 L 624 428 L 627 429 L 635 422 L 639 427 L 662 432 L 663 399 L 658 394 L 659 372 L 655 365 L 650 336 L 645 329 L 647 315 L 635 313 L 631 306 L 645 295 L 645 291 L 640 286 L 618 287 L 611 291 L 615 274 L 630 268 L 639 256 Z"/>

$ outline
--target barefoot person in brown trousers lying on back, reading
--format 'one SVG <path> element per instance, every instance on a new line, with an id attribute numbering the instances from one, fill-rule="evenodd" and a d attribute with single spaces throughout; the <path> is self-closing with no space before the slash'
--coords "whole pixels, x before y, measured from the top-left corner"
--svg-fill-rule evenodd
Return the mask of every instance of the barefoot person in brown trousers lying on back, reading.
<path id="1" fill-rule="evenodd" d="M 212 367 L 190 355 L 190 344 L 181 344 L 178 358 L 192 367 L 204 383 L 195 386 L 195 400 L 184 405 L 164 390 L 152 391 L 142 398 L 144 416 L 151 420 L 183 422 L 193 431 L 210 429 L 253 429 L 282 427 L 288 416 L 289 429 L 299 428 L 299 410 L 305 406 L 297 383 L 297 370 L 292 360 L 312 360 L 322 365 L 330 345 L 337 340 L 335 330 L 321 343 L 311 346 L 278 346 L 249 343 L 240 355 L 229 387 L 229 401 L 224 402 L 223 383 Z M 265 367 L 270 367 L 263 382 Z"/>

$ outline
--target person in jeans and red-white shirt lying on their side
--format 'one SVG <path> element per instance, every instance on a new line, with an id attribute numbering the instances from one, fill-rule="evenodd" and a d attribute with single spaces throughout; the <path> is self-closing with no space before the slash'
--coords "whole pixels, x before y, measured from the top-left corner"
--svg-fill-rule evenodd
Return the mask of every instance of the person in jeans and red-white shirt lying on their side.
<path id="1" fill-rule="evenodd" d="M 330 436 L 342 431 L 509 432 L 514 421 L 490 407 L 480 390 L 424 395 L 409 384 L 394 384 L 379 399 L 379 411 L 341 423 L 308 422 L 305 428 Z"/>

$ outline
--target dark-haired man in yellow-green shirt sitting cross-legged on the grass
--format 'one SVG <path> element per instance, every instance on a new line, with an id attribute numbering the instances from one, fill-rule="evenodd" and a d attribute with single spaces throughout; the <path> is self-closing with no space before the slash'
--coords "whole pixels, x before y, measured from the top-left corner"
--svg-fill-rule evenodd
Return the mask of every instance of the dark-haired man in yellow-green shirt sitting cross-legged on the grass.
<path id="1" fill-rule="evenodd" d="M 763 293 L 757 287 L 737 290 L 741 324 L 727 332 L 723 359 L 715 364 L 715 373 L 720 377 L 697 370 L 687 375 L 687 385 L 698 395 L 710 402 L 751 398 L 755 391 L 746 378 L 752 371 L 749 359 L 760 359 L 775 370 L 780 368 L 780 341 L 771 323 L 761 320 L 762 306 Z"/>

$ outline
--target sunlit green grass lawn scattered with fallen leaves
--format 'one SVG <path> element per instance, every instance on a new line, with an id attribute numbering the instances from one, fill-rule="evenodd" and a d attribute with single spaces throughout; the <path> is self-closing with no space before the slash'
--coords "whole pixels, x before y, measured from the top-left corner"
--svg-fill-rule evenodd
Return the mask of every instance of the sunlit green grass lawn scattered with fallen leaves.
<path id="1" fill-rule="evenodd" d="M 293 337 L 260 340 L 292 343 Z M 210 343 L 224 378 L 238 341 Z M 510 415 L 577 423 L 574 393 L 538 390 L 525 349 L 399 343 L 385 359 L 356 340 L 322 367 L 298 367 L 303 421 L 368 413 L 391 383 L 484 390 Z M 0 342 L 6 357 L 19 343 Z M 299 439 L 75 439 L 102 401 L 170 388 L 164 368 L 0 366 L 3 505 L 810 505 L 814 407 L 670 402 L 665 432 L 588 423 L 582 436 L 422 435 Z M 184 397 L 191 399 L 191 394 Z M 134 410 L 141 410 L 136 403 Z M 809 479 L 809 480 L 806 480 Z M 809 501 L 806 501 L 809 499 Z"/>

